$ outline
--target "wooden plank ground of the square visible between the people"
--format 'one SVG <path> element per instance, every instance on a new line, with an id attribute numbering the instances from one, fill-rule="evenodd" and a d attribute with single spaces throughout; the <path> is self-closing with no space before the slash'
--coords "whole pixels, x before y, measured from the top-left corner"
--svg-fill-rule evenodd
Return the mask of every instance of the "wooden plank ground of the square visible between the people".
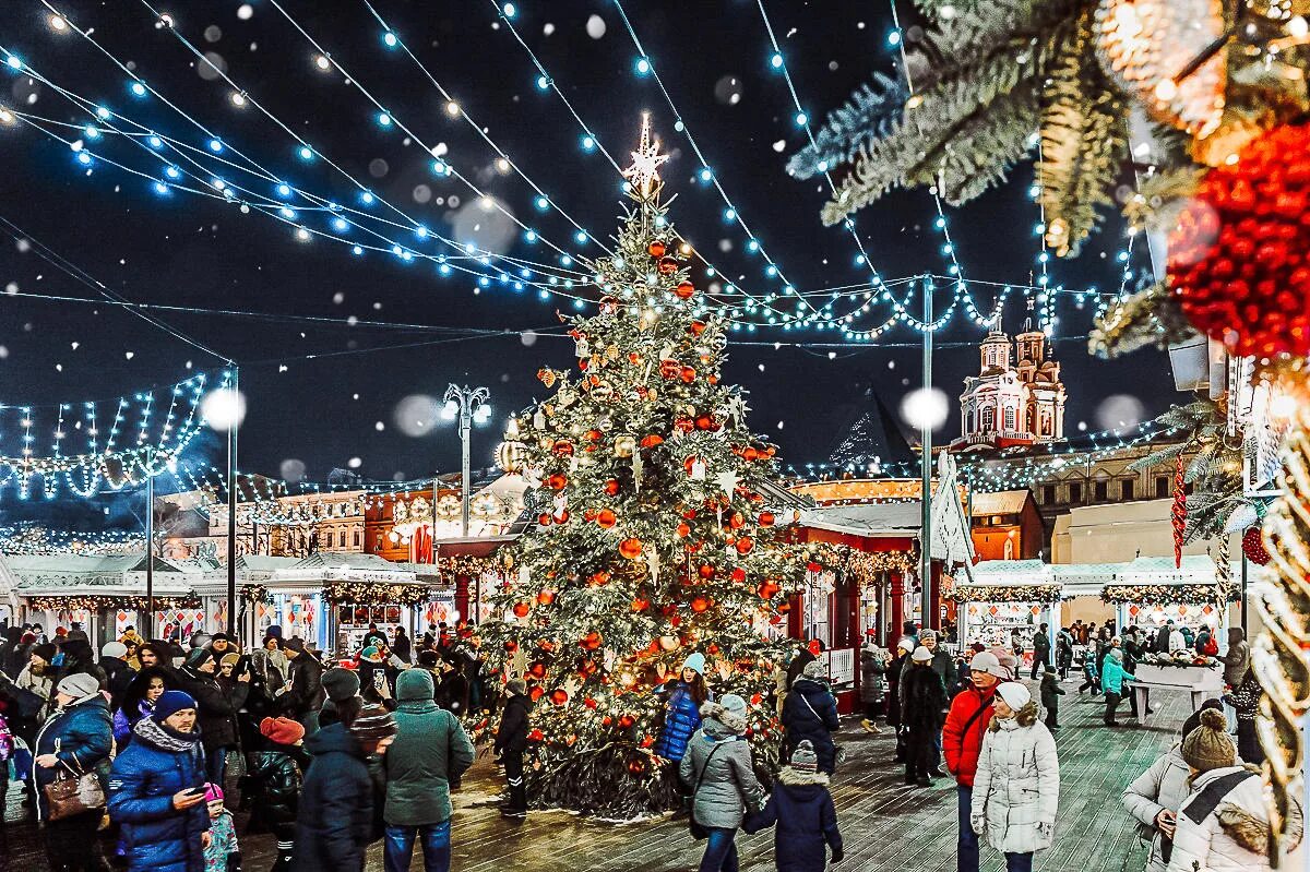
<path id="1" fill-rule="evenodd" d="M 1124 787 L 1169 748 L 1188 700 L 1162 695 L 1148 727 L 1108 729 L 1103 706 L 1085 702 L 1068 682 L 1057 733 L 1061 762 L 1056 846 L 1036 859 L 1052 872 L 1138 872 L 1145 846 L 1120 804 Z M 1121 721 L 1127 721 L 1127 706 Z M 846 859 L 837 872 L 952 872 L 955 869 L 955 784 L 939 779 L 931 788 L 907 787 L 903 769 L 891 762 L 889 735 L 865 733 L 849 721 L 841 741 L 848 759 L 833 784 Z M 533 812 L 510 822 L 496 812 L 498 782 L 490 759 L 479 758 L 456 796 L 455 863 L 458 872 L 673 872 L 696 869 L 703 843 L 693 843 L 684 821 L 612 825 L 566 812 Z M 242 827 L 244 829 L 244 827 Z M 10 868 L 46 868 L 31 825 L 10 830 Z M 740 837 L 741 869 L 773 869 L 773 834 Z M 272 864 L 270 837 L 242 841 L 246 872 Z M 415 856 L 415 869 L 422 859 Z M 3 868 L 3 867 L 0 867 Z M 369 851 L 368 871 L 383 868 L 381 847 Z M 982 872 L 1005 868 L 1003 858 L 982 848 Z"/>

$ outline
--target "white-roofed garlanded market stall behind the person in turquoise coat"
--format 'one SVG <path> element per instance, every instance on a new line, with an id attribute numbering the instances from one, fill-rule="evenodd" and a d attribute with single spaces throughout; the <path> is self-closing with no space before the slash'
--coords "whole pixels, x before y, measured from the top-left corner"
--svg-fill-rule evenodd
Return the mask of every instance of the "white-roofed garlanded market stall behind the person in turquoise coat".
<path id="1" fill-rule="evenodd" d="M 1174 558 L 1137 558 L 1115 575 L 1102 590 L 1102 600 L 1117 609 L 1117 626 L 1138 626 L 1155 632 L 1169 621 L 1193 632 L 1203 626 L 1224 639 L 1229 626 L 1227 604 L 1238 590 L 1216 580 L 1214 562 L 1204 554 Z"/>

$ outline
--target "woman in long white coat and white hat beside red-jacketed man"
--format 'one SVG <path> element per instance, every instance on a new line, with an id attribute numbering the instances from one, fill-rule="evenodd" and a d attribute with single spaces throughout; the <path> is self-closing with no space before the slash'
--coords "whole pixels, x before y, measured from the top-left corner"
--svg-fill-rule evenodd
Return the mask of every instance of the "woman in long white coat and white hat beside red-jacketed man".
<path id="1" fill-rule="evenodd" d="M 1006 872 L 1032 872 L 1032 854 L 1055 838 L 1058 803 L 1056 741 L 1028 689 L 1003 682 L 973 779 L 973 831 L 1005 854 Z"/>

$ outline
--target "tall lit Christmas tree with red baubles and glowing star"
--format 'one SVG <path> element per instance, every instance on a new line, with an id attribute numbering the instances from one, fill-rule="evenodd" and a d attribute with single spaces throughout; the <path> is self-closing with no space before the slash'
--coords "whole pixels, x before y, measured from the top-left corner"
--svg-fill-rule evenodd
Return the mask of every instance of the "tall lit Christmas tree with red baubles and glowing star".
<path id="1" fill-rule="evenodd" d="M 779 606 L 804 571 L 779 542 L 793 518 L 761 494 L 776 446 L 720 380 L 728 325 L 660 203 L 665 160 L 647 119 L 617 250 L 588 263 L 600 312 L 569 321 L 576 369 L 541 369 L 553 394 L 511 423 L 537 522 L 482 628 L 493 669 L 537 700 L 529 793 L 618 818 L 677 801 L 676 767 L 651 752 L 654 691 L 693 652 L 717 697 L 748 700 L 757 759 L 776 758 Z"/>

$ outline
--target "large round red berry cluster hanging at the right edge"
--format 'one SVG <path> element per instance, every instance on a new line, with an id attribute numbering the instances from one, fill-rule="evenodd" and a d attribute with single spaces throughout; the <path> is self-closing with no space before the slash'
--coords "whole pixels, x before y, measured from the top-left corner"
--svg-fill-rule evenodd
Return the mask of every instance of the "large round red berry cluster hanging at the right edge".
<path id="1" fill-rule="evenodd" d="M 1169 240 L 1188 319 L 1241 355 L 1310 355 L 1310 124 L 1205 174 Z"/>

